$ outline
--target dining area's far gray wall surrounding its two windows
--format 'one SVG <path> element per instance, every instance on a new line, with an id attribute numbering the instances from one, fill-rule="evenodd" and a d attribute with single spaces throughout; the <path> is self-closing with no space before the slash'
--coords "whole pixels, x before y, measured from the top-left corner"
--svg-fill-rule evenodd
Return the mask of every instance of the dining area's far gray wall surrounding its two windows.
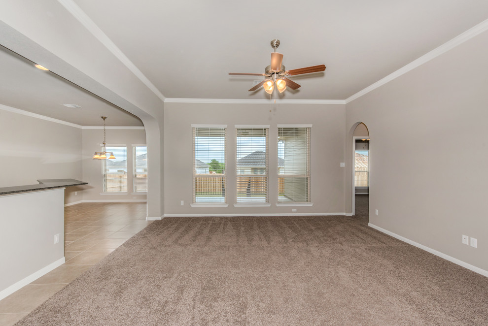
<path id="1" fill-rule="evenodd" d="M 100 145 L 104 139 L 104 131 L 101 129 L 83 129 L 83 181 L 88 182 L 83 186 L 83 200 L 145 200 L 146 195 L 132 195 L 133 184 L 133 153 L 132 145 L 145 145 L 146 134 L 144 130 L 106 130 L 107 145 L 127 146 L 127 195 L 101 195 L 104 191 L 102 162 L 93 160 L 96 150 L 100 151 Z M 151 155 L 147 153 L 148 157 Z M 149 172 L 151 173 L 151 172 Z"/>

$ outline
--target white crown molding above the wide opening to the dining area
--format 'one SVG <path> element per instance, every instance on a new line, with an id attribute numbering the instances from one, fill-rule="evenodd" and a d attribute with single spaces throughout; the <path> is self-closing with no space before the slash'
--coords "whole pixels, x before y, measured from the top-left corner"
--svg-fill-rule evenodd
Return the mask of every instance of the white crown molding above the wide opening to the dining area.
<path id="1" fill-rule="evenodd" d="M 93 20 L 73 1 L 58 0 L 87 30 L 92 33 L 120 62 L 135 74 L 158 98 L 165 100 L 165 96 L 153 83 L 134 65 L 134 63 L 115 45 L 114 42 L 95 24 Z"/>

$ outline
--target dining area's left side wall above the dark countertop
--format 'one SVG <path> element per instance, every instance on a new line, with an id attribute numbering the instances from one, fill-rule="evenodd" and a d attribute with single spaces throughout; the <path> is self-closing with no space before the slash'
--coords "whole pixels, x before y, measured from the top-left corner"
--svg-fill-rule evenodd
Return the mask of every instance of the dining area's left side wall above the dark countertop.
<path id="1" fill-rule="evenodd" d="M 0 187 L 82 179 L 79 128 L 0 109 L 0 148 Z M 66 189 L 66 203 L 81 200 L 77 190 Z"/>

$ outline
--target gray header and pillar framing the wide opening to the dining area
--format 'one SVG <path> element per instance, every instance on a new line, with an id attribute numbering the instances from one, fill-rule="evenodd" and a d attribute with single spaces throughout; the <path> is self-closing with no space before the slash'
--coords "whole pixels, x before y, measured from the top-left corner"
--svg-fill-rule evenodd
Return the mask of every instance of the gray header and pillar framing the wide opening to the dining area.
<path id="1" fill-rule="evenodd" d="M 60 6 L 57 2 L 51 5 L 58 9 Z M 117 58 L 101 46 L 83 26 L 71 24 L 64 27 L 73 29 L 71 35 L 84 37 L 83 44 L 93 43 L 92 46 L 86 45 L 85 48 L 98 49 L 98 51 L 90 50 L 87 55 L 73 52 L 73 47 L 68 41 L 52 44 L 51 35 L 56 34 L 59 29 L 54 23 L 43 26 L 42 20 L 29 15 L 15 20 L 15 23 L 17 29 L 0 20 L 2 46 L 32 62 L 40 62 L 50 67 L 50 70 L 58 76 L 137 116 L 142 121 L 147 151 L 151 153 L 147 161 L 150 177 L 147 181 L 146 218 L 161 219 L 164 214 L 164 102 L 162 98 L 154 94 L 132 71 L 116 60 Z M 39 26 L 46 29 L 45 33 L 34 33 L 35 37 L 31 36 L 33 38 L 24 34 L 31 28 L 39 30 Z M 75 38 L 72 37 L 70 41 L 74 42 Z M 96 56 L 97 59 L 94 60 L 90 56 Z"/>

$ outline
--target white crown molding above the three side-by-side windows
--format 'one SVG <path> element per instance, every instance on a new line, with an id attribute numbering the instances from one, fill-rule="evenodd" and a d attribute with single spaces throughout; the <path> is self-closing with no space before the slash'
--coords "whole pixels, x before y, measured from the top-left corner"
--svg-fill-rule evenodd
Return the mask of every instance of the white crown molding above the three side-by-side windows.
<path id="1" fill-rule="evenodd" d="M 249 98 L 166 98 L 165 103 L 274 104 L 270 99 Z M 277 99 L 277 104 L 346 104 L 344 99 Z"/>

